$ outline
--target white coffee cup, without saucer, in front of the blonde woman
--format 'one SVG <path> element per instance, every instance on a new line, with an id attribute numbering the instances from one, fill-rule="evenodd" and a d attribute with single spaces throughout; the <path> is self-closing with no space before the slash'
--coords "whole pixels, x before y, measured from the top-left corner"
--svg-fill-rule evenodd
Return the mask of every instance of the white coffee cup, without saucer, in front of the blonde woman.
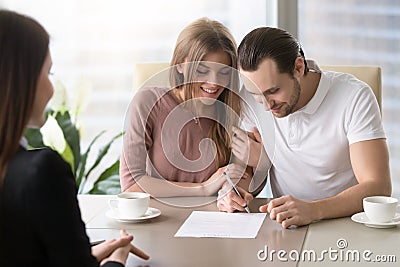
<path id="1" fill-rule="evenodd" d="M 110 208 L 122 219 L 134 219 L 143 216 L 149 208 L 150 195 L 141 192 L 125 192 L 110 199 Z"/>

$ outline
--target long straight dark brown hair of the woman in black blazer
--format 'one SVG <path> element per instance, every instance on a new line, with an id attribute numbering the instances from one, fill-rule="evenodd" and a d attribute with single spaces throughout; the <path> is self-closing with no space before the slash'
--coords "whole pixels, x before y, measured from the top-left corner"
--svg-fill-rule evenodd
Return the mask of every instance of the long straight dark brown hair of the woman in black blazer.
<path id="1" fill-rule="evenodd" d="M 0 10 L 0 187 L 29 122 L 49 35 L 34 19 Z"/>

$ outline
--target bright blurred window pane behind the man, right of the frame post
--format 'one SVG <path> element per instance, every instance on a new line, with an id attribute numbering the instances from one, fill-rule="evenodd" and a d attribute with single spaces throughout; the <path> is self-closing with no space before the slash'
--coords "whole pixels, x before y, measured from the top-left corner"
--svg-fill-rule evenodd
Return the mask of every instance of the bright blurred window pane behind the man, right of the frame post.
<path id="1" fill-rule="evenodd" d="M 306 57 L 321 65 L 382 67 L 382 118 L 393 195 L 400 196 L 400 2 L 298 0 L 298 35 Z"/>

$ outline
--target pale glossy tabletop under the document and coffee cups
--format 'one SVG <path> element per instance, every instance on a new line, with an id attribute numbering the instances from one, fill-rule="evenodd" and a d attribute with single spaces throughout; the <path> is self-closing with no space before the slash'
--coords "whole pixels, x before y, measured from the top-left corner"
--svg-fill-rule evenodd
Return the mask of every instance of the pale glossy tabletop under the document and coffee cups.
<path id="1" fill-rule="evenodd" d="M 131 255 L 127 266 L 400 266 L 399 226 L 369 228 L 346 217 L 282 229 L 280 224 L 267 218 L 256 239 L 175 238 L 173 235 L 191 211 L 216 210 L 215 203 L 177 208 L 152 199 L 150 206 L 161 210 L 159 217 L 141 223 L 121 223 L 105 216 L 108 199 L 114 197 L 79 195 L 78 200 L 91 240 L 115 238 L 119 236 L 119 229 L 126 229 L 135 236 L 134 244 L 151 256 L 150 261 L 143 261 Z M 200 198 L 168 199 L 176 203 L 183 200 L 190 206 Z M 259 203 L 251 207 L 253 211 L 256 205 Z M 265 246 L 268 253 L 272 250 L 275 253 L 272 260 L 267 257 L 260 261 L 257 253 Z M 279 250 L 283 251 L 280 259 Z M 360 255 L 359 261 L 356 254 Z M 374 261 L 377 256 L 390 262 L 378 263 Z M 296 257 L 298 261 L 294 260 Z"/>

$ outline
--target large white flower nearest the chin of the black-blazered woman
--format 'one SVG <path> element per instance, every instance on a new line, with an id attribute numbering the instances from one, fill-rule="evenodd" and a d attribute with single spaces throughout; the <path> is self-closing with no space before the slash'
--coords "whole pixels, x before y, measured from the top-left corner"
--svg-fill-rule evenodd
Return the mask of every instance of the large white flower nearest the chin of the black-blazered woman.
<path id="1" fill-rule="evenodd" d="M 64 134 L 53 116 L 48 116 L 46 123 L 40 128 L 43 136 L 43 144 L 62 154 L 65 150 L 66 141 Z"/>

